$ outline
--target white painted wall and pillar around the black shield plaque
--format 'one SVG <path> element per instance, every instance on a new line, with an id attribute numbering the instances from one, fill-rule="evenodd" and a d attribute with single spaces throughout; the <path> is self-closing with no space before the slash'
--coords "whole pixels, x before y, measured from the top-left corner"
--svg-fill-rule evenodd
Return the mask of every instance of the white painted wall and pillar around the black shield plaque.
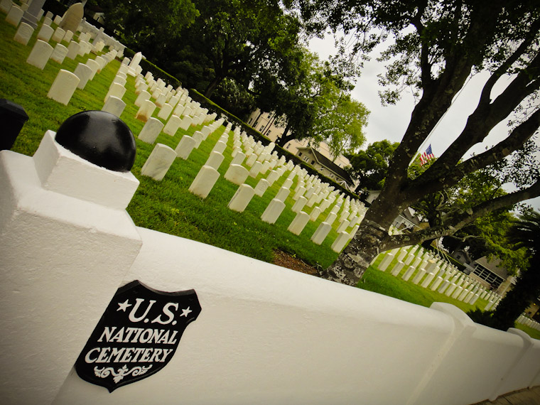
<path id="1" fill-rule="evenodd" d="M 48 189 L 35 160 L 0 153 L 2 404 L 468 405 L 539 384 L 538 340 L 134 227 L 109 197 Z M 164 369 L 109 393 L 70 367 L 135 279 L 193 288 L 202 312 Z"/>

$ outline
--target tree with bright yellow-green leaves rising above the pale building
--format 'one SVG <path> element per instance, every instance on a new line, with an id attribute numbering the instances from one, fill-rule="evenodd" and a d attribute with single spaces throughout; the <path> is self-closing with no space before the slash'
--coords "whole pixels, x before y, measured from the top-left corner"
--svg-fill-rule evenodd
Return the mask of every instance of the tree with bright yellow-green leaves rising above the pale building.
<path id="1" fill-rule="evenodd" d="M 259 108 L 273 112 L 284 127 L 276 144 L 306 139 L 316 146 L 325 141 L 334 157 L 365 141 L 369 111 L 350 97 L 351 88 L 345 72 L 301 46 L 291 50 L 279 75 L 261 75 L 253 86 Z"/>

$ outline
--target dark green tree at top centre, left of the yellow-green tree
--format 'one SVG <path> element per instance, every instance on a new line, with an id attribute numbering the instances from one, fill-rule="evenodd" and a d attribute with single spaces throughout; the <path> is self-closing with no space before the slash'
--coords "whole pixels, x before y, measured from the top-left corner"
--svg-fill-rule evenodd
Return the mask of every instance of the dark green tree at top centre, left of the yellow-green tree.
<path id="1" fill-rule="evenodd" d="M 260 72 L 276 74 L 298 44 L 298 19 L 285 13 L 279 1 L 193 1 L 200 16 L 184 31 L 171 63 L 182 58 L 195 61 L 199 70 L 204 65 L 206 82 L 200 90 L 207 97 L 226 77 L 248 88 Z"/>

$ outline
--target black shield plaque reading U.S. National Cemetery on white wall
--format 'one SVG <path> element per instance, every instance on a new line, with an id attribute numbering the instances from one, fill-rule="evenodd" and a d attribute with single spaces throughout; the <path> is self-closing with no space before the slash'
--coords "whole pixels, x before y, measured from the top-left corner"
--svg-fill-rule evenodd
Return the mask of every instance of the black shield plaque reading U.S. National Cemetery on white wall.
<path id="1" fill-rule="evenodd" d="M 199 313 L 194 290 L 168 293 L 131 281 L 114 294 L 90 335 L 77 374 L 109 392 L 150 377 L 168 364 Z"/>

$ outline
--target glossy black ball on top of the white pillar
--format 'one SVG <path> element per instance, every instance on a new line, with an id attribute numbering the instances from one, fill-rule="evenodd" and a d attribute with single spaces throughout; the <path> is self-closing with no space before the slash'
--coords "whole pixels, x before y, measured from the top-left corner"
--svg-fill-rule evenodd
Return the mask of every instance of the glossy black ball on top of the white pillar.
<path id="1" fill-rule="evenodd" d="M 56 141 L 75 155 L 112 171 L 130 171 L 135 138 L 124 121 L 104 111 L 79 112 L 66 119 Z"/>

